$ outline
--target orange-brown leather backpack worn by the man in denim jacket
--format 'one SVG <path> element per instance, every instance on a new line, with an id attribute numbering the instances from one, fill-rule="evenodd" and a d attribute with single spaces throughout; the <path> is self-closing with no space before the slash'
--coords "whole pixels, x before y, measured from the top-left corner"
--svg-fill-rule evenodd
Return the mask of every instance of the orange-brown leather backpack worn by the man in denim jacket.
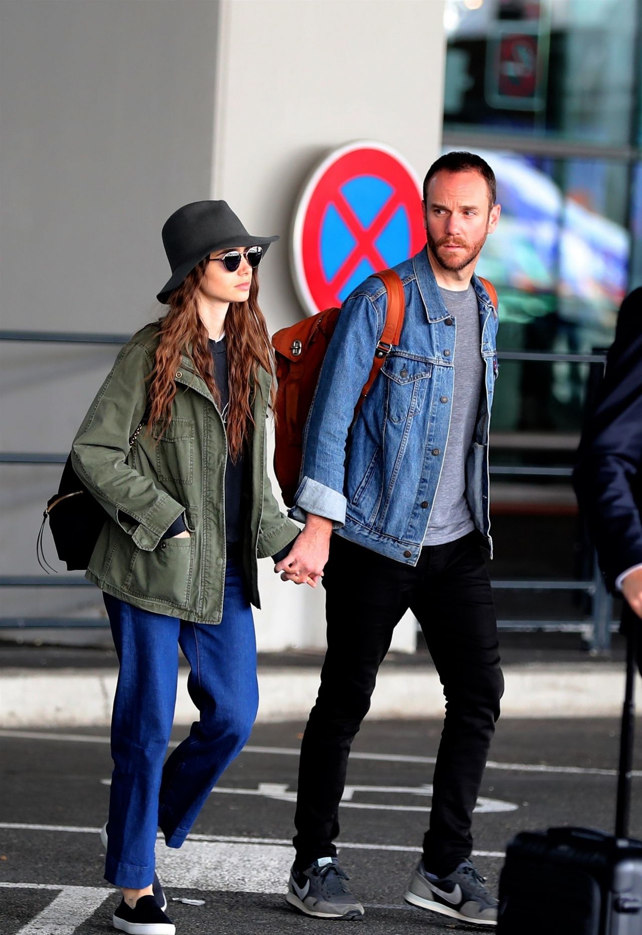
<path id="1" fill-rule="evenodd" d="M 404 286 L 392 269 L 374 275 L 383 282 L 388 293 L 386 324 L 375 351 L 370 376 L 355 407 L 357 416 L 364 399 L 383 367 L 386 356 L 399 343 L 404 324 Z M 294 503 L 299 486 L 303 458 L 303 433 L 312 397 L 319 381 L 321 365 L 335 331 L 341 309 L 325 309 L 302 322 L 281 328 L 272 338 L 277 357 L 276 444 L 274 469 L 288 507 Z"/>

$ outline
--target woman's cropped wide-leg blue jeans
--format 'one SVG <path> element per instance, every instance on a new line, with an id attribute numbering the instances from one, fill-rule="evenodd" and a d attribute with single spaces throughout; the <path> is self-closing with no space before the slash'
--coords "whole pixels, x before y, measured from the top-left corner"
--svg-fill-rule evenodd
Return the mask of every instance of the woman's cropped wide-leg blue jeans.
<path id="1" fill-rule="evenodd" d="M 105 878 L 144 889 L 154 875 L 157 827 L 168 847 L 180 847 L 221 773 L 250 737 L 259 704 L 254 623 L 241 570 L 230 559 L 216 626 L 104 598 L 121 664 L 111 721 Z M 178 646 L 190 664 L 187 687 L 200 717 L 164 763 L 176 705 Z"/>

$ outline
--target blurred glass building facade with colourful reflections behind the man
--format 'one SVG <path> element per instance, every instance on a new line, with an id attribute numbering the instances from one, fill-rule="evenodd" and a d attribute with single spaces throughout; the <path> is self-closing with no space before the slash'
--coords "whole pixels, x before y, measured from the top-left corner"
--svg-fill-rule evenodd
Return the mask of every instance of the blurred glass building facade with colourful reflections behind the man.
<path id="1" fill-rule="evenodd" d="M 601 366 L 565 358 L 606 349 L 642 285 L 642 0 L 446 0 L 444 23 L 443 150 L 483 155 L 502 205 L 478 265 L 503 354 L 492 577 L 586 579 L 569 473 Z M 500 618 L 586 611 L 572 590 L 521 595 L 496 593 Z"/>

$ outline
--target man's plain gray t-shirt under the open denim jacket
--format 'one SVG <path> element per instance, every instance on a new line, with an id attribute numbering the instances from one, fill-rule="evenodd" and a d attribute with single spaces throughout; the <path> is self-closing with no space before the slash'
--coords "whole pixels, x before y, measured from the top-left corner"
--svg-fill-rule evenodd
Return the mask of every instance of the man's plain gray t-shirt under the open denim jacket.
<path id="1" fill-rule="evenodd" d="M 457 320 L 452 358 L 455 373 L 449 438 L 424 545 L 454 542 L 475 528 L 465 498 L 465 464 L 484 379 L 478 301 L 473 286 L 469 285 L 465 292 L 439 287 L 439 292 L 450 317 Z"/>

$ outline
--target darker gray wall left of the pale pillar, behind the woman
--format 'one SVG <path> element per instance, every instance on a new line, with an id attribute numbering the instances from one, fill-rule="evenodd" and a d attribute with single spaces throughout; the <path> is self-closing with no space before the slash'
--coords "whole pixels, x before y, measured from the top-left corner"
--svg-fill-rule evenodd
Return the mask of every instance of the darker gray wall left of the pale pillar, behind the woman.
<path id="1" fill-rule="evenodd" d="M 218 0 L 2 0 L 4 328 L 131 334 L 158 315 L 161 227 L 209 196 L 218 13 Z M 116 352 L 0 343 L 0 450 L 68 450 Z M 3 467 L 3 574 L 39 572 L 59 474 Z M 2 597 L 4 615 L 102 603 L 95 589 Z"/>

